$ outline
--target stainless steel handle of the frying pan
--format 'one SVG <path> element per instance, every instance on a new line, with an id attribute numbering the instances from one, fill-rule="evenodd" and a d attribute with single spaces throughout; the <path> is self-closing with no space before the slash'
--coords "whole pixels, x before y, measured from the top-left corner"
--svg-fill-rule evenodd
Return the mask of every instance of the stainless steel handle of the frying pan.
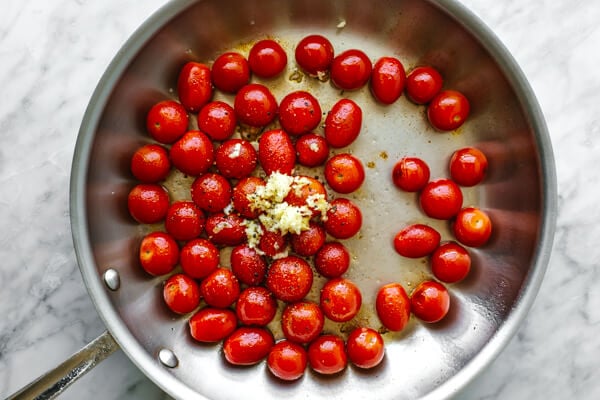
<path id="1" fill-rule="evenodd" d="M 119 345 L 105 331 L 62 364 L 9 396 L 7 400 L 53 399 L 117 349 Z"/>

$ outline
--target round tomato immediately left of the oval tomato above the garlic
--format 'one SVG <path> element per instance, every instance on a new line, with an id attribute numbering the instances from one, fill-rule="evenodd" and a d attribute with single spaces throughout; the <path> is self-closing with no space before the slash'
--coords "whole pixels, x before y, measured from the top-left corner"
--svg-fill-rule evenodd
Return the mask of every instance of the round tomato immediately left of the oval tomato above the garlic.
<path id="1" fill-rule="evenodd" d="M 249 141 L 229 139 L 217 149 L 215 164 L 225 178 L 241 179 L 254 171 L 258 163 L 256 150 Z"/>

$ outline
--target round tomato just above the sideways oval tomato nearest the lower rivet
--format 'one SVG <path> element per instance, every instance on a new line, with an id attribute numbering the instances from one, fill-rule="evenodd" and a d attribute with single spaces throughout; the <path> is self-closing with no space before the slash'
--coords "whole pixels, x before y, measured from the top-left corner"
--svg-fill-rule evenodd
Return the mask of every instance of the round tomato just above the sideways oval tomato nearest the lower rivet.
<path id="1" fill-rule="evenodd" d="M 230 270 L 217 268 L 200 284 L 200 293 L 206 304 L 227 308 L 240 296 L 240 284 Z"/>

